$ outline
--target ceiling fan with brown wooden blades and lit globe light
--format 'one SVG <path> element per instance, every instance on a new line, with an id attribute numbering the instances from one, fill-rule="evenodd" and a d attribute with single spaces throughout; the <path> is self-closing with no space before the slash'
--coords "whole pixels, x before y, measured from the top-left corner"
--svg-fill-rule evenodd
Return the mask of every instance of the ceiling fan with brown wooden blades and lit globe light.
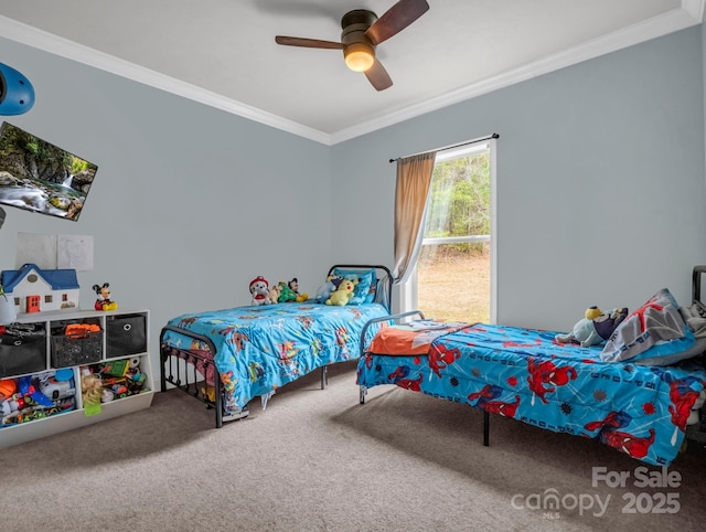
<path id="1" fill-rule="evenodd" d="M 345 64 L 365 77 L 377 91 L 393 85 L 385 67 L 375 57 L 375 47 L 396 35 L 429 10 L 426 0 L 399 0 L 381 18 L 366 9 L 354 9 L 341 19 L 341 42 L 277 35 L 277 44 L 311 49 L 343 50 Z"/>

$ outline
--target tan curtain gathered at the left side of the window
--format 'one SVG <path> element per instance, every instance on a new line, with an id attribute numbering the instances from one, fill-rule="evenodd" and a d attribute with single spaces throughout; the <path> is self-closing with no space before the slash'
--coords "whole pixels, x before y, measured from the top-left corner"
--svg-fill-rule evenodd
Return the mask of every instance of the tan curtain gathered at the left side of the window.
<path id="1" fill-rule="evenodd" d="M 407 280 L 419 255 L 436 151 L 397 160 L 395 189 L 395 284 Z"/>

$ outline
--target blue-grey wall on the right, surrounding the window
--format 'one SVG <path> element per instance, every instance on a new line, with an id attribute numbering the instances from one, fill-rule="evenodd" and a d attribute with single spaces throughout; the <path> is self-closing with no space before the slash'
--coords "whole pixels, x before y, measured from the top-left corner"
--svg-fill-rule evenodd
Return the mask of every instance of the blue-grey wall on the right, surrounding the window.
<path id="1" fill-rule="evenodd" d="M 590 305 L 635 308 L 664 286 L 688 304 L 692 267 L 706 262 L 700 34 L 682 31 L 335 146 L 334 188 L 351 188 L 353 205 L 336 226 L 375 234 L 360 249 L 392 263 L 388 159 L 498 132 L 499 322 L 567 329 Z M 363 204 L 377 215 L 356 216 Z"/>

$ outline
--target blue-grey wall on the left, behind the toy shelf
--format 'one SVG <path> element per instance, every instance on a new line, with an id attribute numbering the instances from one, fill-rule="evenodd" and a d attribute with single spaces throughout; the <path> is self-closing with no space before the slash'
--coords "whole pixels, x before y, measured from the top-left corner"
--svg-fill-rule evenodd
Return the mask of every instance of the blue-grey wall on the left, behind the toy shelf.
<path id="1" fill-rule="evenodd" d="M 90 286 L 108 281 L 120 308 L 148 308 L 154 357 L 168 319 L 249 304 L 257 275 L 297 276 L 302 289 L 324 277 L 329 147 L 13 42 L 0 47 L 36 91 L 29 113 L 3 118 L 98 164 L 78 222 L 4 208 L 0 269 L 14 268 L 18 232 L 93 235 L 82 307 L 93 308 Z"/>

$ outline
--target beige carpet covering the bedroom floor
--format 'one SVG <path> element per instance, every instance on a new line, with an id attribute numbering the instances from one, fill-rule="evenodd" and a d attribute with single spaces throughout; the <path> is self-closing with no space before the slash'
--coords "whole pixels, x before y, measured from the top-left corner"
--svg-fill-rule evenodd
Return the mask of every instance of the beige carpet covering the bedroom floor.
<path id="1" fill-rule="evenodd" d="M 480 412 L 392 386 L 360 405 L 354 382 L 352 363 L 330 370 L 325 391 L 314 372 L 221 429 L 172 391 L 148 411 L 0 451 L 0 530 L 706 528 L 696 444 L 667 471 L 677 487 L 640 488 L 643 465 L 596 441 L 491 416 L 483 447 Z M 625 487 L 593 486 L 598 467 L 630 475 Z M 542 509 L 550 494 L 558 507 Z"/>

